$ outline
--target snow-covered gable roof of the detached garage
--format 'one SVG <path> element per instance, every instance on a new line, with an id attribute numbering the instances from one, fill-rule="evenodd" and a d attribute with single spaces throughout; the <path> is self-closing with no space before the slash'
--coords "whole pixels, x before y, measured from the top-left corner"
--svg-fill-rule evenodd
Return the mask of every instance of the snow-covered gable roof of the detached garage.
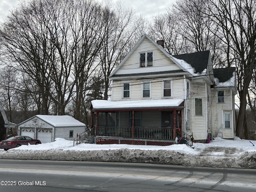
<path id="1" fill-rule="evenodd" d="M 68 115 L 36 115 L 36 116 L 33 116 L 32 118 L 35 118 L 35 117 L 40 118 L 44 122 L 46 122 L 54 127 L 85 126 L 84 123 L 82 123 Z M 32 119 L 32 118 L 30 118 L 30 119 Z M 30 119 L 28 119 L 28 120 L 30 120 Z M 24 122 L 27 122 L 28 120 L 26 120 Z M 23 124 L 24 122 L 22 122 L 20 124 Z"/>

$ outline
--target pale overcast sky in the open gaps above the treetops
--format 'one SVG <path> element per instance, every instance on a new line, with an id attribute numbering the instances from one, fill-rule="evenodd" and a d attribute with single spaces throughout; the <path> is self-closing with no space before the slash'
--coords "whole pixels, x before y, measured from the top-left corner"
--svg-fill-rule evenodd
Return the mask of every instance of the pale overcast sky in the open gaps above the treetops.
<path id="1" fill-rule="evenodd" d="M 103 0 L 98 0 L 103 1 Z M 112 0 L 116 2 L 118 0 Z M 153 15 L 163 13 L 176 0 L 120 0 L 126 7 L 134 8 L 137 14 L 151 19 Z M 0 21 L 3 21 L 8 12 L 14 7 L 18 6 L 19 0 L 0 0 Z"/>

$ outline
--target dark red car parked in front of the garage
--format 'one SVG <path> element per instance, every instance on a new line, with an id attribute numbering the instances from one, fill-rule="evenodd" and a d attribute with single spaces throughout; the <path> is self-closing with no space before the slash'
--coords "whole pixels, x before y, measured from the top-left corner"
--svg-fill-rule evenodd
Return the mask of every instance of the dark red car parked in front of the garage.
<path id="1" fill-rule="evenodd" d="M 37 145 L 41 144 L 40 140 L 32 139 L 31 137 L 28 136 L 15 136 L 15 137 L 10 137 L 6 140 L 2 140 L 0 142 L 0 148 L 4 150 L 8 150 L 11 148 L 19 147 L 21 145 Z"/>

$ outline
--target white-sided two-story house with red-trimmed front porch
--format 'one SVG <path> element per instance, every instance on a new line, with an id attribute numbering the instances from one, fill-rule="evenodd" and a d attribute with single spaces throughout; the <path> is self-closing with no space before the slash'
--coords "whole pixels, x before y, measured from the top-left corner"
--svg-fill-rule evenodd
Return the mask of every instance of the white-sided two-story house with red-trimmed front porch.
<path id="1" fill-rule="evenodd" d="M 171 56 L 161 44 L 144 34 L 109 76 L 111 100 L 91 102 L 95 142 L 234 138 L 235 68 L 213 69 L 210 51 Z"/>

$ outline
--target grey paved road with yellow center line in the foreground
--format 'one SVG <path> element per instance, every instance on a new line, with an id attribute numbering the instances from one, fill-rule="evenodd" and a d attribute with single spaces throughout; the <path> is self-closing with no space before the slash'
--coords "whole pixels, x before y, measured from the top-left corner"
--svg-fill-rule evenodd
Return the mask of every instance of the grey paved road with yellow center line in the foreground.
<path id="1" fill-rule="evenodd" d="M 252 192 L 256 170 L 156 164 L 0 160 L 0 191 Z"/>

